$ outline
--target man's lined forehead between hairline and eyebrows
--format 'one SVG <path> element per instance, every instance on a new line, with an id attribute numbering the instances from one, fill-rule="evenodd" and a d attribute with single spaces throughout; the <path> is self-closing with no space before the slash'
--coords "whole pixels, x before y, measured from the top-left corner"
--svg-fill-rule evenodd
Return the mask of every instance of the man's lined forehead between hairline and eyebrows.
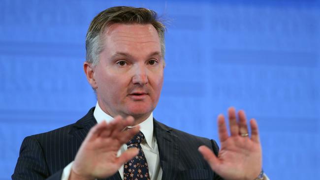
<path id="1" fill-rule="evenodd" d="M 128 48 L 136 51 L 160 51 L 160 39 L 157 30 L 151 25 L 112 24 L 107 27 L 104 35 L 104 48 L 112 50 Z"/>

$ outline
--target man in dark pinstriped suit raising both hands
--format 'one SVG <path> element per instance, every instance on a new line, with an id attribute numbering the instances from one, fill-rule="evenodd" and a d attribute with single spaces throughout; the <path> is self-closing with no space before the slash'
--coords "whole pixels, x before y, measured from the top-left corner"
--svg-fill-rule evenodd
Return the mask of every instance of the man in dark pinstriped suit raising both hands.
<path id="1" fill-rule="evenodd" d="M 230 136 L 224 116 L 218 117 L 220 151 L 213 140 L 153 118 L 163 83 L 164 31 L 149 9 L 99 13 L 87 33 L 84 63 L 96 107 L 74 124 L 27 137 L 12 179 L 263 179 L 257 124 L 250 121 L 249 137 L 243 111 L 237 121 L 229 108 Z"/>

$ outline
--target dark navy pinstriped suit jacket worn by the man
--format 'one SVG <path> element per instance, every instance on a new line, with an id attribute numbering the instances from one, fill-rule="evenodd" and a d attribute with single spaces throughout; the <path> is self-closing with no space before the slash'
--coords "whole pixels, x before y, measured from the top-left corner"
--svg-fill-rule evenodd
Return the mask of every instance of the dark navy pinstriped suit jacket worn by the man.
<path id="1" fill-rule="evenodd" d="M 76 123 L 62 128 L 26 137 L 21 145 L 20 155 L 13 180 L 61 180 L 63 169 L 73 161 L 89 129 L 96 124 L 92 108 Z M 220 180 L 198 152 L 206 145 L 216 154 L 215 141 L 196 137 L 170 128 L 154 120 L 162 180 Z M 107 180 L 121 180 L 116 173 Z"/>

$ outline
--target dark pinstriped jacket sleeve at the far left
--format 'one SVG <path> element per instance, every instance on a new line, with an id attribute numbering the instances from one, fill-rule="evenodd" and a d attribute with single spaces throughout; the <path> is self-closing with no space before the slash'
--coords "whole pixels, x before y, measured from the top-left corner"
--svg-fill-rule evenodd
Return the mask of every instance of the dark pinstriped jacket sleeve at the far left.
<path id="1" fill-rule="evenodd" d="M 11 176 L 12 180 L 60 180 L 62 171 L 50 176 L 43 150 L 32 136 L 26 137 L 21 145 L 19 158 Z"/>

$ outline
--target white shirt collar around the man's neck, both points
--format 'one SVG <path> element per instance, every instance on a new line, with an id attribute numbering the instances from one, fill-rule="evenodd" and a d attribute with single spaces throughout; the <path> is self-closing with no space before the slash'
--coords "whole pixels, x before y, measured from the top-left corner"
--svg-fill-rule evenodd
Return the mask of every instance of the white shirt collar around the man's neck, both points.
<path id="1" fill-rule="evenodd" d="M 99 106 L 98 102 L 96 102 L 96 108 L 94 111 L 94 117 L 96 118 L 97 123 L 105 120 L 107 123 L 110 123 L 114 118 L 110 115 L 106 114 Z M 138 124 L 140 126 L 140 131 L 143 133 L 145 140 L 148 146 L 153 149 L 154 148 L 154 137 L 153 137 L 153 113 L 150 116 Z"/>

